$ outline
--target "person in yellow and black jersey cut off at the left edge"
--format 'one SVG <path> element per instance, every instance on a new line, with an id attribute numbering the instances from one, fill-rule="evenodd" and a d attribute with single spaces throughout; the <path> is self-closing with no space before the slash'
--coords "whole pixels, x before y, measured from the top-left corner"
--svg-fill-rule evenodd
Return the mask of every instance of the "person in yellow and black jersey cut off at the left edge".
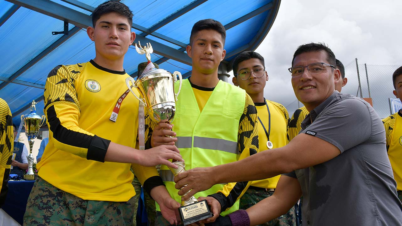
<path id="1" fill-rule="evenodd" d="M 7 102 L 0 98 L 0 208 L 6 201 L 8 191 L 13 141 L 11 111 Z"/>

